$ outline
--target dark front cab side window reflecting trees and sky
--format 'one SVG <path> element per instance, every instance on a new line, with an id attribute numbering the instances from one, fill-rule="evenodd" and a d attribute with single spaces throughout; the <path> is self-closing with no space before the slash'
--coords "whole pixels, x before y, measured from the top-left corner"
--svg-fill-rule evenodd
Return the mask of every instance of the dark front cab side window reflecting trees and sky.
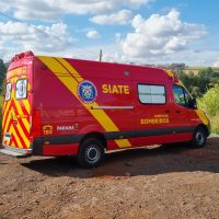
<path id="1" fill-rule="evenodd" d="M 191 102 L 191 96 L 188 92 L 181 85 L 173 85 L 173 94 L 175 103 L 182 106 L 188 106 Z"/>

